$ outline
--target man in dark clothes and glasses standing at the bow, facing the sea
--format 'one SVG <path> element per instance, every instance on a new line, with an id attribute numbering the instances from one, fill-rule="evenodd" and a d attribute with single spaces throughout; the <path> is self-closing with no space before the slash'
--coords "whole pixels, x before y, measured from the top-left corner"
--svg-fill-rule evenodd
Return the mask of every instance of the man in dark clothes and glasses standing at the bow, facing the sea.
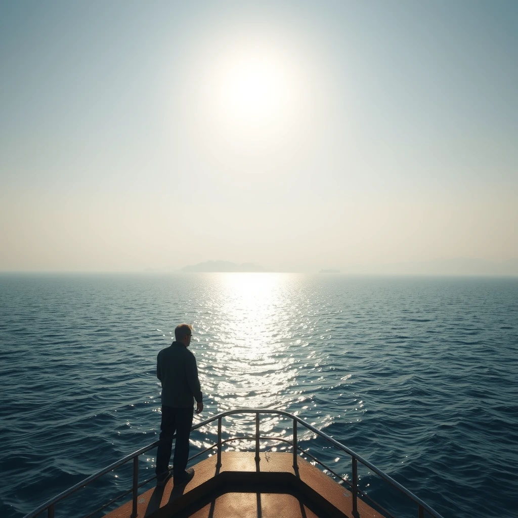
<path id="1" fill-rule="evenodd" d="M 193 403 L 196 413 L 203 410 L 203 395 L 199 385 L 198 368 L 191 344 L 192 326 L 180 324 L 175 329 L 176 341 L 162 349 L 156 358 L 156 377 L 162 382 L 162 422 L 159 447 L 156 452 L 156 485 L 169 479 L 169 460 L 172 436 L 176 430 L 175 456 L 172 472 L 175 486 L 194 477 L 194 469 L 185 469 L 189 458 L 189 435 L 193 422 Z"/>

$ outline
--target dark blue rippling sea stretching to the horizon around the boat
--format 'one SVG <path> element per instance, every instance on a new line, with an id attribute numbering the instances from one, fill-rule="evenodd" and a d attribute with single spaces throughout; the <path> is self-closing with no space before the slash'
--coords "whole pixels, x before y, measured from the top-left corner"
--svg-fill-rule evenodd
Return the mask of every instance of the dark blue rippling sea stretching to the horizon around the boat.
<path id="1" fill-rule="evenodd" d="M 518 279 L 299 274 L 1 275 L 0 516 L 22 517 L 157 439 L 156 354 L 181 322 L 194 324 L 205 394 L 196 422 L 284 409 L 445 517 L 516 516 Z M 251 433 L 251 419 L 226 420 L 224 436 Z M 261 431 L 290 438 L 291 426 L 266 417 Z M 193 454 L 215 428 L 191 439 Z M 350 476 L 348 456 L 299 439 Z M 141 479 L 153 469 L 150 452 Z M 372 498 L 417 515 L 359 474 Z M 109 473 L 56 516 L 87 514 L 130 485 L 129 468 Z"/>

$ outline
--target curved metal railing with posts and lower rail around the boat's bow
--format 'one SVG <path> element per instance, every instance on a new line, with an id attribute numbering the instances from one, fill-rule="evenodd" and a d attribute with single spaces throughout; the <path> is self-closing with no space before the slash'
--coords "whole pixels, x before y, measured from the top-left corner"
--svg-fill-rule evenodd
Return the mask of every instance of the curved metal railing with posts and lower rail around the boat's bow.
<path id="1" fill-rule="evenodd" d="M 223 418 L 227 417 L 228 415 L 234 415 L 234 414 L 255 414 L 255 435 L 231 437 L 231 438 L 222 440 L 222 433 L 221 433 L 222 432 L 222 420 L 223 420 Z M 261 414 L 277 414 L 277 415 L 283 415 L 283 416 L 291 419 L 293 421 L 293 440 L 289 441 L 287 439 L 282 439 L 279 437 L 267 437 L 267 436 L 261 437 L 260 429 L 259 429 Z M 260 441 L 261 440 L 279 440 L 279 441 L 286 442 L 286 443 L 292 445 L 294 469 L 297 468 L 297 458 L 298 458 L 299 452 L 300 452 L 300 454 L 304 453 L 304 454 L 310 456 L 313 459 L 313 461 L 319 463 L 321 466 L 326 468 L 334 476 L 338 477 L 340 480 L 342 480 L 343 482 L 346 482 L 349 485 L 351 493 L 352 493 L 352 511 L 353 511 L 354 516 L 358 515 L 358 494 L 360 494 L 361 496 L 364 496 L 364 497 L 367 496 L 363 491 L 361 491 L 359 489 L 359 486 L 358 486 L 358 462 L 359 462 L 359 463 L 363 464 L 365 467 L 367 467 L 368 469 L 370 469 L 371 471 L 373 471 L 374 473 L 376 473 L 383 480 L 385 480 L 386 482 L 391 484 L 393 487 L 397 488 L 397 490 L 399 490 L 401 493 L 403 493 L 408 498 L 410 498 L 414 503 L 416 503 L 418 506 L 418 518 L 424 518 L 425 511 L 433 518 L 443 518 L 437 511 L 435 511 L 430 506 L 428 506 L 427 503 L 423 502 L 423 500 L 421 500 L 419 497 L 415 496 L 406 487 L 402 486 L 399 482 L 395 481 L 392 477 L 390 477 L 389 475 L 384 473 L 381 469 L 378 469 L 375 465 L 371 464 L 369 461 L 364 459 L 362 456 L 354 453 L 347 446 L 344 446 L 343 444 L 338 442 L 336 439 L 333 439 L 333 437 L 328 436 L 327 434 L 323 433 L 323 431 L 313 427 L 312 425 L 310 425 L 303 419 L 300 419 L 296 415 L 293 415 L 289 412 L 285 412 L 284 410 L 273 410 L 273 409 L 266 409 L 266 408 L 241 408 L 241 409 L 236 409 L 236 410 L 228 410 L 226 412 L 221 412 L 217 415 L 213 415 L 211 418 L 193 425 L 191 428 L 191 431 L 202 428 L 203 426 L 205 426 L 209 423 L 212 423 L 216 420 L 218 421 L 218 442 L 215 442 L 214 444 L 212 444 L 205 450 L 199 451 L 198 453 L 196 453 L 195 455 L 190 457 L 189 461 L 192 461 L 192 459 L 199 457 L 200 455 L 203 455 L 204 453 L 207 453 L 208 451 L 213 450 L 214 448 L 217 448 L 217 461 L 216 462 L 217 462 L 217 466 L 220 467 L 221 466 L 222 445 L 227 442 L 230 442 L 230 441 L 242 440 L 242 439 L 255 440 L 255 459 L 256 459 L 256 461 L 258 461 L 259 454 L 260 454 Z M 322 437 L 324 440 L 326 440 L 330 444 L 333 444 L 339 450 L 341 450 L 344 453 L 347 453 L 348 455 L 351 456 L 351 463 L 352 463 L 352 480 L 351 481 L 343 479 L 337 473 L 335 473 L 333 470 L 329 469 L 325 464 L 323 464 L 318 459 L 316 459 L 314 456 L 310 455 L 308 452 L 304 451 L 303 449 L 301 449 L 298 446 L 297 423 L 303 425 L 305 428 L 307 428 L 308 430 L 310 430 L 314 434 L 316 434 L 316 436 Z M 106 507 L 111 505 L 112 503 L 123 498 L 124 496 L 129 495 L 130 493 L 132 493 L 132 496 L 133 496 L 131 518 L 136 518 L 138 490 L 140 487 L 148 484 L 149 482 L 151 482 L 152 480 L 154 480 L 156 478 L 156 476 L 153 476 L 143 482 L 140 482 L 140 484 L 138 483 L 138 457 L 139 457 L 139 455 L 142 455 L 143 453 L 146 453 L 149 450 L 156 448 L 158 444 L 159 444 L 159 441 L 155 441 L 152 444 L 149 444 L 149 445 L 141 448 L 140 450 L 137 450 L 136 452 L 132 453 L 131 455 L 127 455 L 126 457 L 120 459 L 120 461 L 114 462 L 113 464 L 110 464 L 106 468 L 103 468 L 102 470 L 97 471 L 97 473 L 94 473 L 90 477 L 85 478 L 81 482 L 70 487 L 69 489 L 67 489 L 66 491 L 55 496 L 51 500 L 43 503 L 42 505 L 40 505 L 39 507 L 34 509 L 32 512 L 25 515 L 24 518 L 34 518 L 35 516 L 37 516 L 38 514 L 44 512 L 44 511 L 47 511 L 48 518 L 54 518 L 54 508 L 55 508 L 55 505 L 57 502 L 64 500 L 65 498 L 67 498 L 71 494 L 75 493 L 79 489 L 87 486 L 94 480 L 97 480 L 98 478 L 102 477 L 104 474 L 109 473 L 110 471 L 113 471 L 114 469 L 116 469 L 130 461 L 133 461 L 133 485 L 132 485 L 132 488 L 130 490 L 124 492 L 123 494 L 118 495 L 116 498 L 113 498 L 109 502 L 105 503 L 102 507 L 93 511 L 85 518 L 89 518 L 90 516 L 95 515 L 96 513 L 102 511 L 103 509 L 105 509 Z M 370 498 L 368 498 L 368 499 L 371 500 Z M 374 501 L 372 501 L 372 502 L 375 503 L 375 505 L 377 505 L 380 509 L 383 509 L 377 502 L 374 502 Z M 383 511 L 387 512 L 385 509 L 383 509 Z"/>

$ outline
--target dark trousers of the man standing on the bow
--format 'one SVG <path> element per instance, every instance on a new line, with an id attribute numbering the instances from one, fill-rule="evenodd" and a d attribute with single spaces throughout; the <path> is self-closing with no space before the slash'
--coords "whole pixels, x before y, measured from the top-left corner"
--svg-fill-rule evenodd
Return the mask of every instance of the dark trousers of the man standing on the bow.
<path id="1" fill-rule="evenodd" d="M 184 477 L 189 458 L 189 435 L 193 424 L 194 408 L 174 408 L 162 406 L 159 447 L 156 451 L 156 470 L 158 475 L 169 468 L 172 450 L 172 436 L 176 431 L 175 456 L 172 460 L 172 474 L 177 480 Z"/>

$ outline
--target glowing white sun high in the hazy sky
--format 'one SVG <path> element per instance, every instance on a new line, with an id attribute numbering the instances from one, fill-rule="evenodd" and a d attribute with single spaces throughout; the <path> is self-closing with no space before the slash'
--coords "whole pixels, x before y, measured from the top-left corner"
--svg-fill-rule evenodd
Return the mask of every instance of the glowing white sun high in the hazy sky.
<path id="1" fill-rule="evenodd" d="M 258 33 L 215 39 L 193 56 L 188 98 L 196 141 L 219 155 L 294 141 L 310 96 L 310 67 L 282 37 Z"/>

